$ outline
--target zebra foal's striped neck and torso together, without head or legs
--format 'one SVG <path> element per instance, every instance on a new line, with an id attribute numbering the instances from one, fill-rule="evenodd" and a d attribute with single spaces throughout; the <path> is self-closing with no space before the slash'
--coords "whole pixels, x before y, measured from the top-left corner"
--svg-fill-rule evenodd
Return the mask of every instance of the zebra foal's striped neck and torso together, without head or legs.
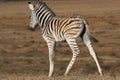
<path id="1" fill-rule="evenodd" d="M 65 36 L 78 37 L 82 32 L 83 21 L 79 17 L 59 18 L 44 3 L 36 5 L 35 15 L 44 38 L 51 36 L 55 41 L 65 40 Z"/>

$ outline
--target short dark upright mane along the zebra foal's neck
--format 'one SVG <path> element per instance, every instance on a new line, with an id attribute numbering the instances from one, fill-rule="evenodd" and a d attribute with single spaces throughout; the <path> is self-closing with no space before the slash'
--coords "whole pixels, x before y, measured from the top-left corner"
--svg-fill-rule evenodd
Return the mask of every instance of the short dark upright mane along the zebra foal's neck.
<path id="1" fill-rule="evenodd" d="M 45 2 L 37 1 L 35 4 L 35 9 L 39 9 L 42 6 L 45 7 L 53 16 L 56 16 L 56 14 L 46 5 Z"/>

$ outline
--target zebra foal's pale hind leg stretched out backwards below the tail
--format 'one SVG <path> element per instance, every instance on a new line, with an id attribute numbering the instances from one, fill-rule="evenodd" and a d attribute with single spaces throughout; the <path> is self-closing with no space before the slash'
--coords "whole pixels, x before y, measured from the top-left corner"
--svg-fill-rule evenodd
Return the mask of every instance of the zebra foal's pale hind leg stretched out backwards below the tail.
<path id="1" fill-rule="evenodd" d="M 84 37 L 84 43 L 85 43 L 86 46 L 88 47 L 91 56 L 93 57 L 93 59 L 94 59 L 95 62 L 96 62 L 96 65 L 97 65 L 98 71 L 99 71 L 99 73 L 100 73 L 100 76 L 102 76 L 102 75 L 103 75 L 102 69 L 101 69 L 100 64 L 99 64 L 99 62 L 98 62 L 97 56 L 96 56 L 96 54 L 95 54 L 95 51 L 94 51 L 94 49 L 93 49 L 93 47 L 92 47 L 92 45 L 91 45 L 91 41 L 89 40 L 89 38 L 88 38 L 87 36 Z"/>

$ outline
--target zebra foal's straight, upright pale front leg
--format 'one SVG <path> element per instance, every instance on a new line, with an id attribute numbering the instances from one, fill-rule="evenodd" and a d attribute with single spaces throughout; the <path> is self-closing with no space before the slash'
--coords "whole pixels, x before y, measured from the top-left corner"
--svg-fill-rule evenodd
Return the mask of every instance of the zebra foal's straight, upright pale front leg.
<path id="1" fill-rule="evenodd" d="M 55 42 L 54 41 L 48 41 L 47 45 L 48 45 L 48 49 L 49 49 L 49 62 L 50 62 L 48 77 L 51 77 L 52 74 L 53 74 L 53 70 L 54 70 Z"/>

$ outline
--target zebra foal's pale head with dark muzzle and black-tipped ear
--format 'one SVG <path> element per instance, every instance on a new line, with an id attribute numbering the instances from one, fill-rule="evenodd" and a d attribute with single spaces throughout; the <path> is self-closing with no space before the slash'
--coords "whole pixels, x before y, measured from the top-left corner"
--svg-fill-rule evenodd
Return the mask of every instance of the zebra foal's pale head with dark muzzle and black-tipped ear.
<path id="1" fill-rule="evenodd" d="M 30 30 L 34 31 L 36 29 L 36 27 L 38 26 L 38 20 L 36 18 L 36 14 L 35 14 L 35 7 L 31 2 L 28 2 L 28 7 L 31 11 Z"/>

